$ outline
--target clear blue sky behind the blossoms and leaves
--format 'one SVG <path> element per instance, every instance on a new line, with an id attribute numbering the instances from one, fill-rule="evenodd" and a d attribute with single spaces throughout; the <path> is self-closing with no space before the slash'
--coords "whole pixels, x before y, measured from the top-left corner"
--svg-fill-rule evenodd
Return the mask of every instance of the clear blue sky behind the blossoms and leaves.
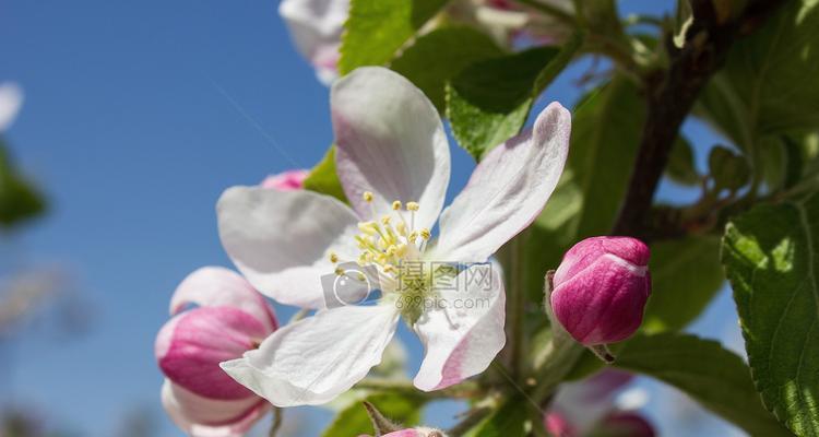
<path id="1" fill-rule="evenodd" d="M 187 273 L 229 265 L 216 199 L 229 186 L 312 166 L 332 140 L 328 90 L 295 52 L 276 7 L 0 0 L 0 81 L 20 83 L 26 97 L 8 139 L 51 202 L 45 220 L 0 236 L 3 259 L 64 265 L 93 316 L 76 339 L 26 330 L 1 349 L 2 401 L 35 405 L 90 436 L 111 435 L 129 411 L 147 408 L 161 435 L 179 434 L 158 403 L 153 341 Z M 579 92 L 569 76 L 544 102 L 571 105 Z M 452 153 L 456 190 L 473 164 Z M 685 192 L 666 186 L 663 196 Z M 732 310 L 723 297 L 711 318 Z"/>

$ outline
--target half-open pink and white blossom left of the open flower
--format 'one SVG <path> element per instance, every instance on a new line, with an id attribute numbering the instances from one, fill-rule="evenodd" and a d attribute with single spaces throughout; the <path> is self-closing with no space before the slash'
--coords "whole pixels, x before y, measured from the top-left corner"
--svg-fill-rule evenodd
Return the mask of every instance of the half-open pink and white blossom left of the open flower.
<path id="1" fill-rule="evenodd" d="M 197 307 L 189 309 L 191 305 Z M 239 274 L 205 267 L 179 284 L 170 315 L 155 344 L 165 374 L 163 406 L 192 436 L 242 436 L 270 405 L 226 375 L 219 363 L 256 349 L 275 331 L 273 309 Z"/>

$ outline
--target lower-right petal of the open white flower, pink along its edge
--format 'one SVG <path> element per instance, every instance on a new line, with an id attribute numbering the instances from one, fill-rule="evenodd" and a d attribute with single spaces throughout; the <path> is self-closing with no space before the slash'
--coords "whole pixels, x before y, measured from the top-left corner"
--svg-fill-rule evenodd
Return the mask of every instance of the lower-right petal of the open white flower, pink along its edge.
<path id="1" fill-rule="evenodd" d="M 488 281 L 487 281 L 488 280 Z M 426 351 L 415 387 L 437 390 L 484 371 L 506 344 L 506 294 L 499 269 L 475 264 L 456 290 L 441 290 L 413 326 Z"/>

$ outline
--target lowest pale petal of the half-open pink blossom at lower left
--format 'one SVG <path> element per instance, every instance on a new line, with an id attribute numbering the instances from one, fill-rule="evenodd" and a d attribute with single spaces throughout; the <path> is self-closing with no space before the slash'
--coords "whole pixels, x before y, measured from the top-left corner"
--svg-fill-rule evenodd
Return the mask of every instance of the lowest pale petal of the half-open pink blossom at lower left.
<path id="1" fill-rule="evenodd" d="M 162 385 L 162 404 L 174 423 L 193 437 L 241 437 L 270 409 L 256 397 L 237 401 L 202 398 L 168 379 Z"/>

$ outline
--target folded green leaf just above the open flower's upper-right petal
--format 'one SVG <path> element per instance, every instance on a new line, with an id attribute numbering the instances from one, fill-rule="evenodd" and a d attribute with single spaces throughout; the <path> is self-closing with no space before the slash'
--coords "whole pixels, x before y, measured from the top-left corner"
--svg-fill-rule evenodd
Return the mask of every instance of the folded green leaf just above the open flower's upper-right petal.
<path id="1" fill-rule="evenodd" d="M 447 86 L 447 116 L 459 144 L 475 160 L 514 137 L 534 99 L 569 64 L 581 44 L 538 47 L 476 62 Z"/>

